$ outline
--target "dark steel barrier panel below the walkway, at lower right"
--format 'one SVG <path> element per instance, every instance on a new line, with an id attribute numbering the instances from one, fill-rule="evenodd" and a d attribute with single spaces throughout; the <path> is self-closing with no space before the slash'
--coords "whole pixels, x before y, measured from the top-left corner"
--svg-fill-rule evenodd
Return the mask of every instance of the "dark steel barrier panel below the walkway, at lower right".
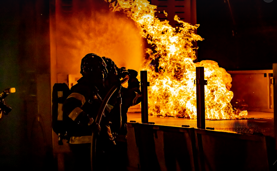
<path id="1" fill-rule="evenodd" d="M 199 170 L 268 171 L 266 137 L 195 128 Z"/>

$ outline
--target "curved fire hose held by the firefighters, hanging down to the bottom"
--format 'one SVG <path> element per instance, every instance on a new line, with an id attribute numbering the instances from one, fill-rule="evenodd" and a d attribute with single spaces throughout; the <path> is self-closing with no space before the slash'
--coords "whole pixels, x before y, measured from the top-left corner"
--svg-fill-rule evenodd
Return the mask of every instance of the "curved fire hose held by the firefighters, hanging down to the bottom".
<path id="1" fill-rule="evenodd" d="M 118 85 L 114 85 L 110 91 L 107 93 L 107 95 L 105 96 L 105 98 L 103 99 L 103 102 L 99 108 L 99 111 L 98 111 L 98 114 L 96 116 L 96 119 L 95 119 L 95 122 L 97 124 L 100 124 L 100 121 L 101 121 L 101 118 L 102 118 L 102 115 L 103 115 L 103 112 L 105 110 L 105 107 L 108 103 L 108 101 L 110 100 L 111 96 L 113 95 L 113 93 L 121 87 L 122 84 L 126 83 L 127 81 L 129 80 L 129 75 L 126 75 L 122 80 L 121 80 L 121 84 L 120 86 Z M 93 132 L 92 133 L 92 136 L 91 136 L 91 147 L 90 147 L 90 159 L 91 159 L 91 170 L 92 171 L 96 171 L 96 163 L 95 163 L 95 159 L 96 159 L 96 135 L 95 133 Z"/>

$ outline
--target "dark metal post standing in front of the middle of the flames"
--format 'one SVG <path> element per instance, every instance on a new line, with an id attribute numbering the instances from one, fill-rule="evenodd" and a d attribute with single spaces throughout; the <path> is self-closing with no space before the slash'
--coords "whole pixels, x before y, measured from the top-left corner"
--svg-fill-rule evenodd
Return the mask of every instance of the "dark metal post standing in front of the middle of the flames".
<path id="1" fill-rule="evenodd" d="M 205 129 L 205 87 L 207 80 L 204 80 L 204 67 L 196 67 L 196 112 L 197 128 Z"/>

